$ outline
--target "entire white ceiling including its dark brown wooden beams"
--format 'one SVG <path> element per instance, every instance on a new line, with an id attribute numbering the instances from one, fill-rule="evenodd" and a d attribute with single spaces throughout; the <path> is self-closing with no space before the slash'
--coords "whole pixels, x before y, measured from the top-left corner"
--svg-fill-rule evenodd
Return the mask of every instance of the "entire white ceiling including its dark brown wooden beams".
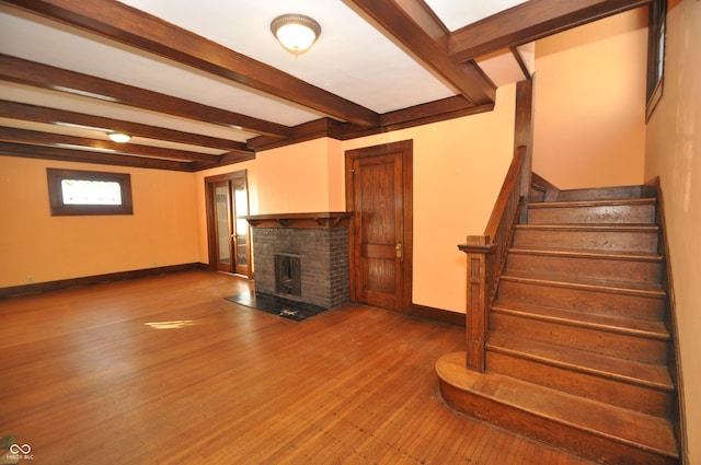
<path id="1" fill-rule="evenodd" d="M 489 112 L 533 40 L 650 2 L 0 0 L 0 153 L 194 172 Z M 321 24 L 307 54 L 284 13 Z"/>

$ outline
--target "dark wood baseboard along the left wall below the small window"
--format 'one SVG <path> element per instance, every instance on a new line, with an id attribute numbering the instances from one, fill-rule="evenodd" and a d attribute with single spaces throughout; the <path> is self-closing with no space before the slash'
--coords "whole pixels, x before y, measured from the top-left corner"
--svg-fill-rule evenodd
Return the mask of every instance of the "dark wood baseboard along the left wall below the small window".
<path id="1" fill-rule="evenodd" d="M 207 269 L 200 263 L 170 265 L 158 268 L 136 269 L 131 271 L 110 272 L 106 275 L 87 276 L 82 278 L 61 279 L 58 281 L 35 282 L 33 284 L 11 286 L 0 288 L 0 299 L 8 299 L 21 295 L 38 294 L 43 292 L 58 291 L 61 289 L 77 288 L 81 286 L 104 284 L 112 281 L 124 281 L 127 279 L 145 278 L 147 276 L 164 275 L 166 272 L 181 272 L 191 269 Z"/>

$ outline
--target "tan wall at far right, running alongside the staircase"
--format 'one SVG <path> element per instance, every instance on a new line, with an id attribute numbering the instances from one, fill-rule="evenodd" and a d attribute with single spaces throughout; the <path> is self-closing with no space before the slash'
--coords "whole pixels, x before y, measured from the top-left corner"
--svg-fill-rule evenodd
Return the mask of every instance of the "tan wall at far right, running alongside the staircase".
<path id="1" fill-rule="evenodd" d="M 674 274 L 688 422 L 688 464 L 701 463 L 701 3 L 673 0 L 664 95 L 647 128 L 645 176 L 659 176 Z"/>

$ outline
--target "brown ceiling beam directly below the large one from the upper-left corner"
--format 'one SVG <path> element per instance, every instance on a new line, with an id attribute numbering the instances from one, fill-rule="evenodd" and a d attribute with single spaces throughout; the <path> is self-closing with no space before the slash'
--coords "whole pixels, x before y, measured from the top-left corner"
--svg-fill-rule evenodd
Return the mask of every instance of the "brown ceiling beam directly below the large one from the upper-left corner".
<path id="1" fill-rule="evenodd" d="M 280 138 L 289 137 L 291 133 L 289 126 L 9 55 L 0 54 L 0 79 L 209 123 L 229 129 L 243 128 L 251 132 Z"/>

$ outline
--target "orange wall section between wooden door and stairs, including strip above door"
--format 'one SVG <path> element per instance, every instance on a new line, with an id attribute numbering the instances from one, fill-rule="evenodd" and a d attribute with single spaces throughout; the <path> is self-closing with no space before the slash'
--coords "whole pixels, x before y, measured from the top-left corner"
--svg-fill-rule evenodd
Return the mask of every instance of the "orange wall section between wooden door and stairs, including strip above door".
<path id="1" fill-rule="evenodd" d="M 515 98 L 516 85 L 503 86 L 493 112 L 343 144 L 414 140 L 415 304 L 466 312 L 467 258 L 457 246 L 484 232 L 514 154 Z"/>

